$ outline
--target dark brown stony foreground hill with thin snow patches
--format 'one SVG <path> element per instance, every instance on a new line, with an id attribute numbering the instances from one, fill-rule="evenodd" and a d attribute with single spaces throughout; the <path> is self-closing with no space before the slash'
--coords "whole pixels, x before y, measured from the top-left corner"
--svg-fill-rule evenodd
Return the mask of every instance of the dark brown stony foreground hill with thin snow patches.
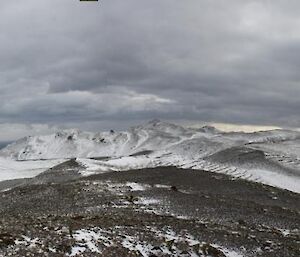
<path id="1" fill-rule="evenodd" d="M 1 257 L 300 256 L 299 194 L 227 175 L 68 161 L 0 190 Z"/>

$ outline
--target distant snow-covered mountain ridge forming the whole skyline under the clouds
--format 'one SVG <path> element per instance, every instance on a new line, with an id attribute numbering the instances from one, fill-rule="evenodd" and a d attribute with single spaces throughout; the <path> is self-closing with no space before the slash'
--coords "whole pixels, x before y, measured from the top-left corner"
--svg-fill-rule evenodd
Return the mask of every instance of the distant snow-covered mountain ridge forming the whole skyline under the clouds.
<path id="1" fill-rule="evenodd" d="M 1 149 L 0 156 L 17 160 L 91 157 L 91 155 L 101 156 L 103 152 L 107 152 L 105 156 L 121 156 L 134 154 L 133 150 L 160 150 L 183 140 L 201 137 L 203 140 L 207 138 L 214 140 L 214 136 L 239 144 L 276 143 L 300 139 L 300 133 L 292 130 L 276 129 L 253 133 L 222 132 L 207 125 L 194 129 L 155 119 L 131 127 L 127 131 L 110 130 L 93 133 L 79 129 L 64 129 L 49 135 L 27 136 Z M 151 144 L 150 140 L 153 140 L 156 146 Z M 52 147 L 46 147 L 46 145 L 52 145 Z M 146 147 L 151 149 L 144 149 Z"/>

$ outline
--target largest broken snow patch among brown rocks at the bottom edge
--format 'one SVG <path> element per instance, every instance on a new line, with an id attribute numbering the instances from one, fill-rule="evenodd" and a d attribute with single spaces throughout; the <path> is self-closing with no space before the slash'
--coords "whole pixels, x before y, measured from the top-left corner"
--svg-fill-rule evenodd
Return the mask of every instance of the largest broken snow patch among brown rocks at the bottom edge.
<path id="1" fill-rule="evenodd" d="M 103 253 L 105 248 L 118 245 L 139 253 L 143 257 L 166 254 L 197 257 L 199 254 L 201 256 L 202 254 L 206 255 L 206 251 L 209 248 L 223 253 L 226 257 L 243 257 L 241 253 L 235 250 L 216 244 L 210 245 L 200 242 L 189 233 L 177 234 L 170 228 L 162 230 L 147 226 L 145 231 L 141 233 L 150 235 L 152 240 L 141 241 L 137 235 L 132 236 L 129 231 L 126 232 L 126 228 L 119 226 L 110 230 L 99 227 L 80 229 L 72 234 L 75 245 L 72 247 L 69 256 L 78 256 L 84 252 Z M 160 245 L 154 244 L 154 242 L 160 242 Z M 185 251 L 181 249 L 182 247 L 184 247 Z"/>

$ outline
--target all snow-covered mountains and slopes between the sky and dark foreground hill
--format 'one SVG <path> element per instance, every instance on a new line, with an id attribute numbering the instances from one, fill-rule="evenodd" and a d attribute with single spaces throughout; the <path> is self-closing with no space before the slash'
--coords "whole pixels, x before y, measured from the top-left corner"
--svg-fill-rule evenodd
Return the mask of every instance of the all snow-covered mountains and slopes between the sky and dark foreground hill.
<path id="1" fill-rule="evenodd" d="M 226 173 L 300 193 L 300 132 L 290 130 L 225 133 L 209 126 L 192 129 L 153 120 L 123 132 L 73 129 L 26 137 L 0 150 L 0 158 L 1 165 L 11 167 L 0 171 L 0 180 L 34 176 L 38 168 L 45 170 L 52 162 L 77 158 L 85 167 L 82 175 L 177 166 Z M 21 165 L 20 171 L 20 163 L 28 168 Z"/>

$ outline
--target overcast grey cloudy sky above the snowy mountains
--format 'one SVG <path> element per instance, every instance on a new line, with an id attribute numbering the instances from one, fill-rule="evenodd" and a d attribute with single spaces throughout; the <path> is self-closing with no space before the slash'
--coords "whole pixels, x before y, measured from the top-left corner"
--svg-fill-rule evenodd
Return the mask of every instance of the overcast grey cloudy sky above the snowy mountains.
<path id="1" fill-rule="evenodd" d="M 300 127 L 299 0 L 0 2 L 0 141 L 149 119 Z"/>

